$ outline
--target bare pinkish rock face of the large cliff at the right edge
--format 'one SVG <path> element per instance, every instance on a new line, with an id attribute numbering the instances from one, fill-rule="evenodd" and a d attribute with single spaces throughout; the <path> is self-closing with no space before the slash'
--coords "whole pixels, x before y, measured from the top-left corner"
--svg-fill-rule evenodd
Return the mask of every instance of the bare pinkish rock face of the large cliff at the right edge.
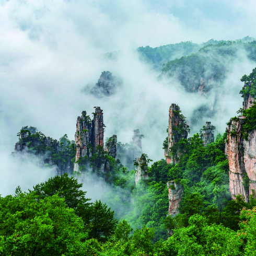
<path id="1" fill-rule="evenodd" d="M 244 98 L 243 109 L 251 107 L 250 96 Z M 249 201 L 252 189 L 256 189 L 256 130 L 242 134 L 245 117 L 234 118 L 227 126 L 226 155 L 229 160 L 229 190 L 232 199 L 241 194 Z"/>

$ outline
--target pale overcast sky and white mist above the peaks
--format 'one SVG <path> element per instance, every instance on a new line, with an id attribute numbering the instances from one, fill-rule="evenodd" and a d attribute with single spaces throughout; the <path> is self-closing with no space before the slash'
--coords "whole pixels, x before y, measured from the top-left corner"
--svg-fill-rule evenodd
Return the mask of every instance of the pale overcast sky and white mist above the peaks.
<path id="1" fill-rule="evenodd" d="M 139 128 L 144 152 L 160 159 L 170 104 L 189 111 L 196 103 L 193 97 L 183 98 L 179 85 L 170 89 L 159 83 L 158 74 L 139 62 L 133 50 L 256 37 L 255 21 L 256 2 L 249 0 L 0 0 L 0 173 L 9 178 L 15 173 L 6 154 L 14 150 L 22 126 L 74 139 L 77 116 L 83 110 L 90 114 L 94 106 L 103 109 L 107 136 L 115 133 L 118 141 L 128 142 Z M 114 50 L 122 51 L 117 62 L 102 58 Z M 242 86 L 239 77 L 252 67 L 246 60 L 239 64 L 232 76 L 237 88 Z M 124 79 L 122 92 L 103 100 L 82 94 L 102 71 Z"/>

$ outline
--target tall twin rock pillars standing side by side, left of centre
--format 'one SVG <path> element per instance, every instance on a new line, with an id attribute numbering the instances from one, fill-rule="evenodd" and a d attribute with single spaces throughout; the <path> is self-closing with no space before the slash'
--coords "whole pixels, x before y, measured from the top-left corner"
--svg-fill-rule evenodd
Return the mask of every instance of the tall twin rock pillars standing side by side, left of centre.
<path id="1" fill-rule="evenodd" d="M 89 159 L 93 153 L 100 152 L 104 147 L 104 123 L 103 111 L 100 107 L 95 108 L 94 119 L 91 120 L 86 111 L 82 112 L 82 116 L 77 118 L 75 144 L 76 159 L 74 171 L 79 171 L 79 161 L 84 158 Z M 101 148 L 99 148 L 99 146 Z M 105 162 L 102 161 L 97 171 L 104 171 Z"/>

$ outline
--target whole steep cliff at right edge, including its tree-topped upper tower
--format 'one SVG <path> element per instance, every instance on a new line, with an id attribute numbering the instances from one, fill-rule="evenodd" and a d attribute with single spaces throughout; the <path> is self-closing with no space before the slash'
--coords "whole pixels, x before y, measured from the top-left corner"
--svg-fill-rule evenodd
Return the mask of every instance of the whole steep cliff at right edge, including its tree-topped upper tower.
<path id="1" fill-rule="evenodd" d="M 254 69 L 253 69 L 254 71 Z M 247 81 L 250 76 L 243 76 Z M 229 160 L 229 190 L 232 199 L 241 194 L 249 201 L 256 189 L 256 106 L 252 97 L 253 83 L 247 81 L 240 91 L 243 95 L 243 116 L 232 118 L 227 126 L 226 155 Z"/>

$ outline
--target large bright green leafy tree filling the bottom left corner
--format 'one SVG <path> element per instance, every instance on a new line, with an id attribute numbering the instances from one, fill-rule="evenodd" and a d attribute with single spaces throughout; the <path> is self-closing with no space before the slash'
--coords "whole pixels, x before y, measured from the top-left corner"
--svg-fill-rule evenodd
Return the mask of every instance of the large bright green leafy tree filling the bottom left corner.
<path id="1" fill-rule="evenodd" d="M 57 195 L 36 193 L 0 198 L 1 255 L 83 255 L 82 219 Z"/>

